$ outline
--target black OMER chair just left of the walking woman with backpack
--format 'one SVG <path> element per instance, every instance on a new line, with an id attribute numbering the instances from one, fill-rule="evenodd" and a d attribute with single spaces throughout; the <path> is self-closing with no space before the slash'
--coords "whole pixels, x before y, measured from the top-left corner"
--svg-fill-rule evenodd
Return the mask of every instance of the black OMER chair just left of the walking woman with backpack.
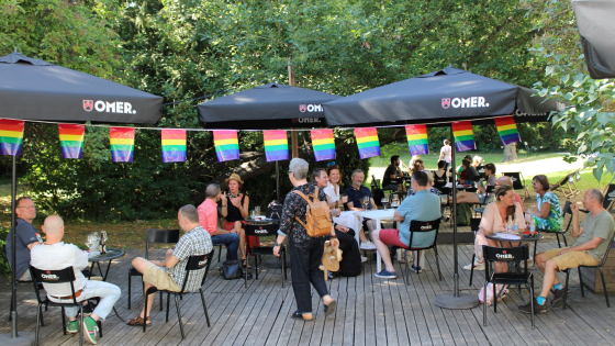
<path id="1" fill-rule="evenodd" d="M 246 225 L 246 236 L 277 236 L 279 225 L 277 223 L 272 224 L 262 224 L 262 225 Z M 273 256 L 273 247 L 271 246 L 250 246 L 249 242 L 246 242 L 246 256 L 248 258 L 253 257 L 253 265 L 254 268 L 248 269 L 246 266 L 246 272 L 244 274 L 244 283 L 246 288 L 248 287 L 248 271 L 254 270 L 256 280 L 258 280 L 258 257 L 259 256 Z M 278 268 L 278 263 L 281 264 L 282 267 L 282 288 L 284 287 L 284 280 L 288 279 L 287 276 L 287 248 L 282 244 L 280 245 L 280 257 L 278 257 L 276 263 L 276 269 Z"/>

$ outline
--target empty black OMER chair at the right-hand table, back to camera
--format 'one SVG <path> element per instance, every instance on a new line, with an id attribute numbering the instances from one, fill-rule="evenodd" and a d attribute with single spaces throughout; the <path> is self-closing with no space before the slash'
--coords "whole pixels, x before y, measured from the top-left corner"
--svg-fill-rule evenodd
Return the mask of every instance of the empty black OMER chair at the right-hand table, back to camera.
<path id="1" fill-rule="evenodd" d="M 525 284 L 529 290 L 529 303 L 532 306 L 532 328 L 534 330 L 534 276 L 527 270 L 527 259 L 529 259 L 529 248 L 527 244 L 517 247 L 491 247 L 483 245 L 482 254 L 484 256 L 484 284 L 483 292 L 483 325 L 487 326 L 487 284 L 493 286 L 493 313 L 497 312 L 497 284 L 518 286 L 521 295 L 521 286 Z M 503 261 L 508 264 L 508 272 L 495 272 L 493 270 L 494 261 Z M 521 264 L 524 263 L 524 266 Z M 522 297 L 523 299 L 523 297 Z"/>

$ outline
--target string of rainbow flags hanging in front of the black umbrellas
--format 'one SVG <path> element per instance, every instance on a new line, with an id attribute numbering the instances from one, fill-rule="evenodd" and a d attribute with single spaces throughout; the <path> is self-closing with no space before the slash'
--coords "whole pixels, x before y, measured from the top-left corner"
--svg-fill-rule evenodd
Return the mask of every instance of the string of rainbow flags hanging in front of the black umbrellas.
<path id="1" fill-rule="evenodd" d="M 495 126 L 502 144 L 521 142 L 513 116 L 495 118 Z M 0 119 L 0 154 L 21 155 L 25 121 Z M 100 126 L 100 125 L 97 125 Z M 132 163 L 134 155 L 135 127 L 109 127 L 109 142 L 113 163 Z M 160 130 L 160 129 L 158 129 Z M 86 125 L 58 124 L 59 143 L 64 158 L 80 159 L 83 153 Z M 161 129 L 163 163 L 186 161 L 187 131 Z M 235 130 L 212 130 L 215 155 L 219 163 L 239 158 L 239 142 Z M 405 125 L 411 155 L 427 155 L 427 126 Z M 471 121 L 452 122 L 452 134 L 457 152 L 476 149 Z M 332 129 L 310 130 L 316 161 L 335 159 L 335 141 Z M 262 131 L 267 161 L 288 160 L 289 145 L 286 130 Z M 357 127 L 355 137 L 361 159 L 380 156 L 380 141 L 376 127 Z"/>

